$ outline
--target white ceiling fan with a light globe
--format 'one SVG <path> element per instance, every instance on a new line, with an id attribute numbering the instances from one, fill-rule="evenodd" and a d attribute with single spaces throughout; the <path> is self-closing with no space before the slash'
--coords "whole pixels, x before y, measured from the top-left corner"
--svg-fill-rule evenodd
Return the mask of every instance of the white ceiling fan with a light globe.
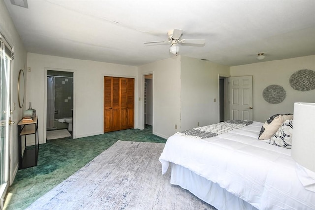
<path id="1" fill-rule="evenodd" d="M 167 33 L 168 40 L 166 41 L 152 41 L 152 42 L 144 42 L 144 44 L 152 44 L 152 43 L 170 43 L 171 46 L 169 51 L 177 56 L 179 52 L 178 44 L 198 44 L 202 45 L 205 44 L 206 41 L 204 39 L 180 39 L 183 35 L 183 30 L 181 29 L 174 29 L 170 30 Z"/>

